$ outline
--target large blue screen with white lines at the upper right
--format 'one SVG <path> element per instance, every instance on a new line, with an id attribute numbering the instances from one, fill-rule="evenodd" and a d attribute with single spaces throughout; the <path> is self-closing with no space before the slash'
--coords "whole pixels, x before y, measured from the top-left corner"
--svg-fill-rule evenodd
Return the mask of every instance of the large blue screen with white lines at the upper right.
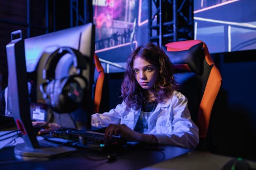
<path id="1" fill-rule="evenodd" d="M 256 49 L 256 1 L 194 0 L 195 39 L 210 53 Z"/>

